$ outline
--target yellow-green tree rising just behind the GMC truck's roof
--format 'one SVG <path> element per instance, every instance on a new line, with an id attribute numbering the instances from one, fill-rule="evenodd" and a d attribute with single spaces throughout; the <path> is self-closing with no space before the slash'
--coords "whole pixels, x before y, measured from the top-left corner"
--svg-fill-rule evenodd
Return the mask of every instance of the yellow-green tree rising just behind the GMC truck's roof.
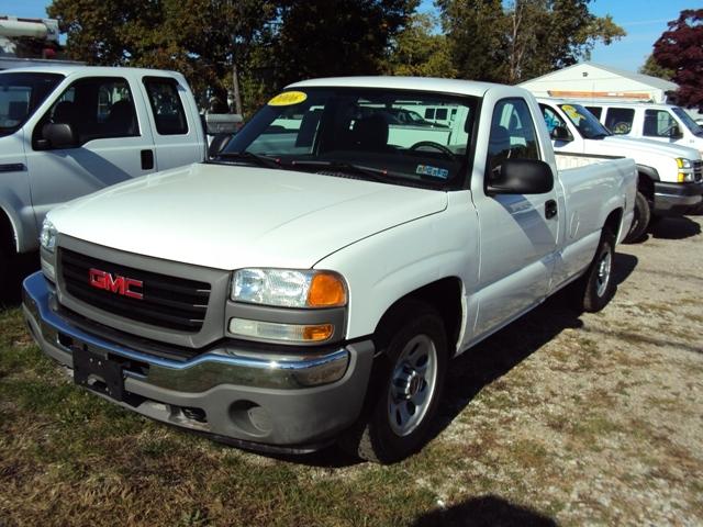
<path id="1" fill-rule="evenodd" d="M 447 37 L 436 32 L 437 19 L 428 13 L 413 14 L 392 43 L 384 72 L 415 77 L 456 77 Z"/>

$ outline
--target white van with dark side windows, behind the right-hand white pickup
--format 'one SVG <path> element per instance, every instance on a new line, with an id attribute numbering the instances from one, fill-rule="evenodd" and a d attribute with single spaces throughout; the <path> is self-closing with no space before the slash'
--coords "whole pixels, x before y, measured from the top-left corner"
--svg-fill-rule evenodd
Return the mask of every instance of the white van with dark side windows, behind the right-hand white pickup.
<path id="1" fill-rule="evenodd" d="M 578 102 L 615 135 L 672 143 L 703 153 L 703 127 L 680 106 L 648 102 Z"/>

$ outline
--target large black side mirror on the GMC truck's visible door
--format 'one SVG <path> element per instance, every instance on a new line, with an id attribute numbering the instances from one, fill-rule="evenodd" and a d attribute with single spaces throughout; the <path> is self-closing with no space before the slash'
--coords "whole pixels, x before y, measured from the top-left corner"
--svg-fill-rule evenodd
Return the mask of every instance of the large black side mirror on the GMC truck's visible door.
<path id="1" fill-rule="evenodd" d="M 505 159 L 493 169 L 487 193 L 544 194 L 554 189 L 554 173 L 545 161 L 536 159 Z"/>

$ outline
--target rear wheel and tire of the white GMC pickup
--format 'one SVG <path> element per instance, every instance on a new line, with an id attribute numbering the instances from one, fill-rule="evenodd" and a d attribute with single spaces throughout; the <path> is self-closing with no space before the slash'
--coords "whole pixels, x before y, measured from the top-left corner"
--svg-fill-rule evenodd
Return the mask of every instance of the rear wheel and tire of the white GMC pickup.
<path id="1" fill-rule="evenodd" d="M 588 271 L 573 288 L 576 306 L 589 313 L 601 311 L 615 294 L 613 267 L 615 262 L 615 235 L 604 227 Z"/>

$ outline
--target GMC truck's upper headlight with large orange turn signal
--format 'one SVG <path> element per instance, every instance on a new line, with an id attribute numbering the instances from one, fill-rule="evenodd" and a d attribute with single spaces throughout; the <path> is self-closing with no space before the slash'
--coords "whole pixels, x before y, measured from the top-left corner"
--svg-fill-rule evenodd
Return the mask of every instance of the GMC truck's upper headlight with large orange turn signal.
<path id="1" fill-rule="evenodd" d="M 347 288 L 332 271 L 239 269 L 230 296 L 235 302 L 280 307 L 335 307 L 347 303 Z"/>

